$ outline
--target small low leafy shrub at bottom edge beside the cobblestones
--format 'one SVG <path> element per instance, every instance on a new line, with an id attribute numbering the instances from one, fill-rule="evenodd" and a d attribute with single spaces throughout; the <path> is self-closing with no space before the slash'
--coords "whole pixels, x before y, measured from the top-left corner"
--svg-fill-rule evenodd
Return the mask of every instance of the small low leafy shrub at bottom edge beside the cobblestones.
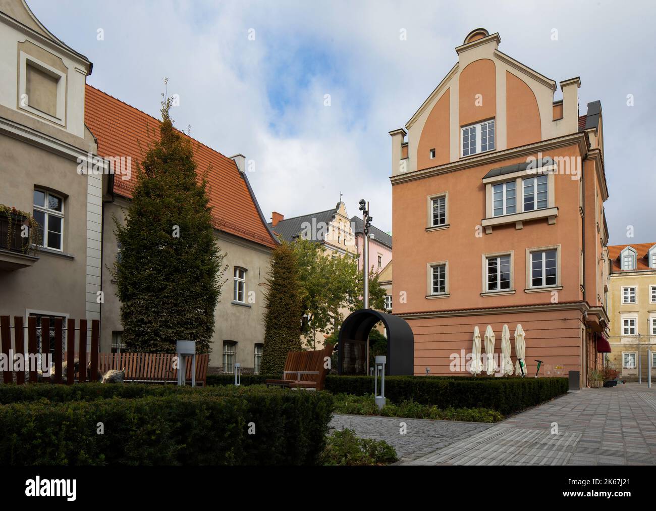
<path id="1" fill-rule="evenodd" d="M 398 459 L 396 450 L 384 440 L 358 438 L 353 430 L 335 431 L 321 453 L 324 465 L 384 465 Z"/>

